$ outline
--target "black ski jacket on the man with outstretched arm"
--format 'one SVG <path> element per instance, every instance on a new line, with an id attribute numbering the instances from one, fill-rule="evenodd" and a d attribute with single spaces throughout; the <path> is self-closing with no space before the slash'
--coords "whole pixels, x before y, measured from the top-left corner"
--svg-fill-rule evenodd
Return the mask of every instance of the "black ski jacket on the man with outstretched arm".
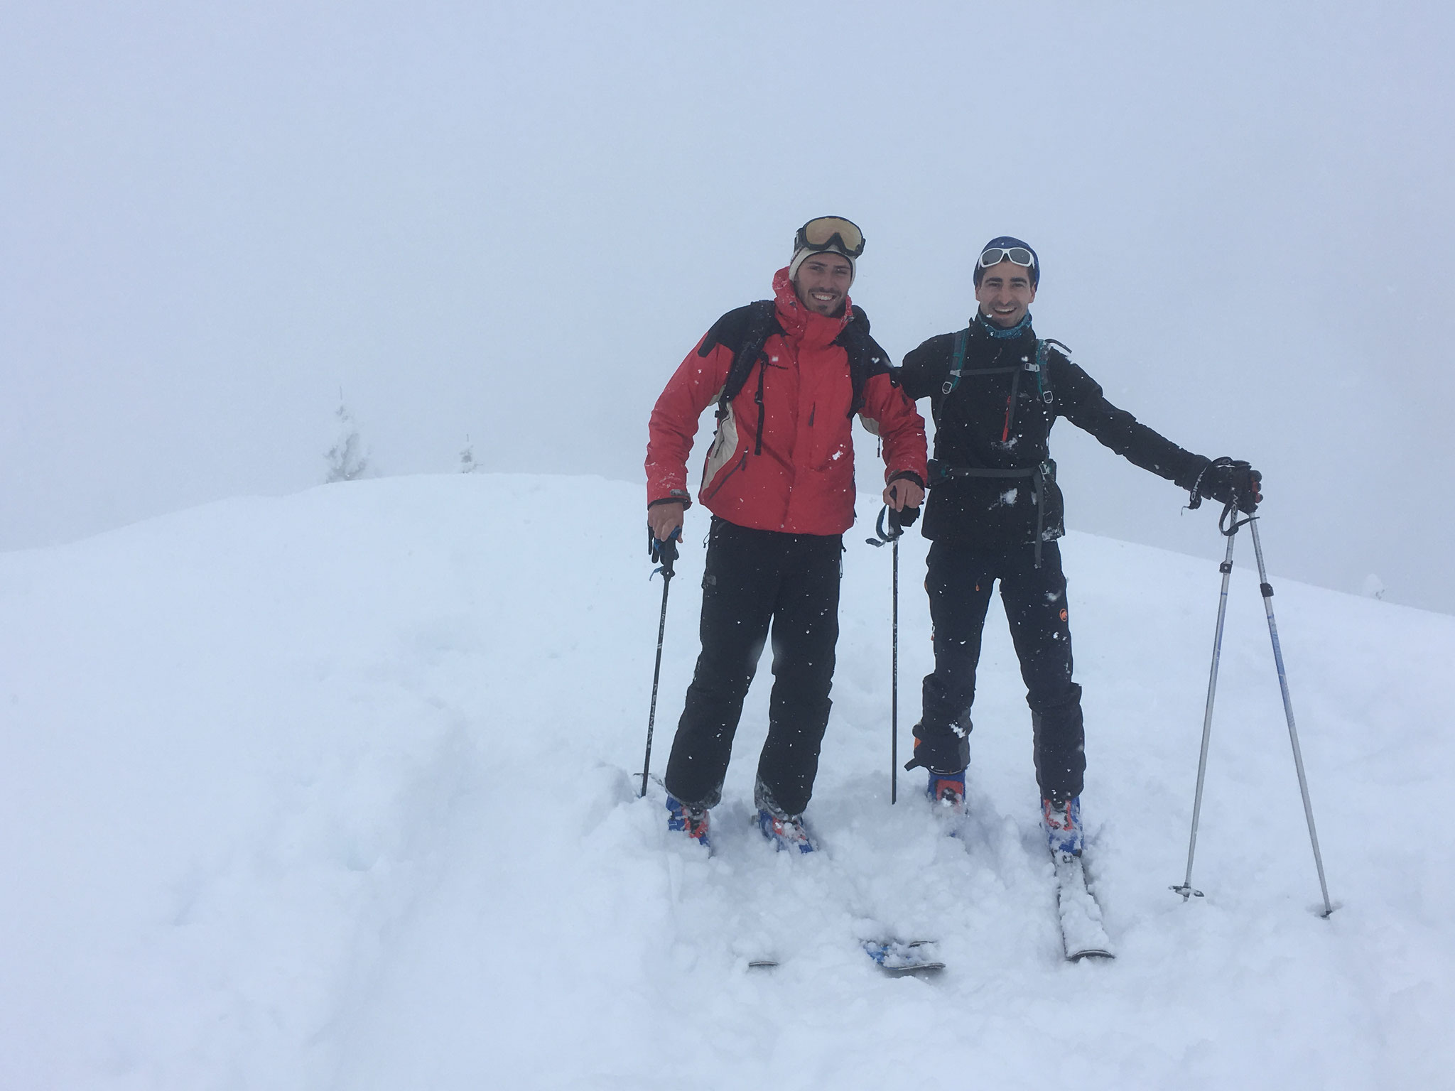
<path id="1" fill-rule="evenodd" d="M 1037 368 L 1035 330 L 992 337 L 972 321 L 953 381 L 954 337 L 930 337 L 896 371 L 911 399 L 930 399 L 936 423 L 924 537 L 1004 548 L 1037 544 L 1037 529 L 1039 541 L 1065 534 L 1049 447 L 1058 416 L 1183 489 L 1208 465 L 1107 401 L 1058 342 L 1045 343 Z"/>

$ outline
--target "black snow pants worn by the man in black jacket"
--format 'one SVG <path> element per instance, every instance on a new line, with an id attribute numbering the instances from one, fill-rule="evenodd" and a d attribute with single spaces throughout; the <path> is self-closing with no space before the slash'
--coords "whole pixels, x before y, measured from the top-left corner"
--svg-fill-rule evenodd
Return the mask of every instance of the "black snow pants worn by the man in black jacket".
<path id="1" fill-rule="evenodd" d="M 924 711 L 915 733 L 917 765 L 959 772 L 970 759 L 970 706 L 975 668 L 995 580 L 1010 621 L 1011 640 L 1026 682 L 1035 739 L 1036 783 L 1046 799 L 1081 794 L 1085 729 L 1081 687 L 1071 681 L 1071 627 L 1061 550 L 982 550 L 936 541 L 930 546 L 925 591 L 934 623 L 934 674 L 924 679 Z"/>

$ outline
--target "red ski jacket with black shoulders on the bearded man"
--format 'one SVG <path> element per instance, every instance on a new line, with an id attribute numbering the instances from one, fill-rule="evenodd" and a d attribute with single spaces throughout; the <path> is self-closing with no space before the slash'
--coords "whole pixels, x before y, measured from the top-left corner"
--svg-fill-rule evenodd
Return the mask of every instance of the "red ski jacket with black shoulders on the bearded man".
<path id="1" fill-rule="evenodd" d="M 848 353 L 834 339 L 853 320 L 853 307 L 845 300 L 837 319 L 809 311 L 786 268 L 774 275 L 773 294 L 784 333 L 768 337 L 765 362 L 755 365 L 717 422 L 697 497 L 739 527 L 842 534 L 854 525 L 853 384 Z M 698 417 L 723 391 L 732 355 L 725 345 L 707 356 L 694 348 L 656 400 L 646 448 L 649 505 L 691 503 L 687 457 Z M 924 484 L 924 420 L 914 401 L 889 381 L 888 369 L 869 377 L 863 399 L 860 419 L 883 441 L 885 480 L 914 476 Z"/>

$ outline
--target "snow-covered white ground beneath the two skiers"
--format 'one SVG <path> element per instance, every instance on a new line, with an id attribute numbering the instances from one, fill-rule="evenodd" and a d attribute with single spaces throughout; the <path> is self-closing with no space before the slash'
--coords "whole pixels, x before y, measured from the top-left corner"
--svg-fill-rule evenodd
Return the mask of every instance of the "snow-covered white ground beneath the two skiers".
<path id="1" fill-rule="evenodd" d="M 1168 493 L 1168 518 L 1177 518 Z M 809 818 L 717 852 L 637 799 L 661 582 L 642 496 L 453 476 L 230 500 L 0 556 L 0 1087 L 1455 1085 L 1455 618 L 1277 579 L 1320 896 L 1240 540 L 1195 886 L 1215 563 L 1072 534 L 1091 868 L 1119 959 L 1068 964 L 992 607 L 963 838 L 889 806 L 889 551 L 847 537 Z M 1215 535 L 1215 513 L 1200 518 Z M 672 583 L 653 767 L 695 655 Z M 928 669 L 901 548 L 901 751 Z M 856 937 L 936 937 L 889 979 Z M 770 954 L 776 970 L 749 970 Z"/>

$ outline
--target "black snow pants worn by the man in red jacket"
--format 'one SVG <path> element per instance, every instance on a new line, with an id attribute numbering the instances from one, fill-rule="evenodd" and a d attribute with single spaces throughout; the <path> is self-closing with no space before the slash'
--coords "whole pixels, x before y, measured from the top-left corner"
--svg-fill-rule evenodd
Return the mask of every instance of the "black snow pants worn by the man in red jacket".
<path id="1" fill-rule="evenodd" d="M 722 800 L 742 701 L 771 627 L 768 740 L 754 802 L 784 816 L 808 807 L 828 727 L 842 541 L 713 516 L 703 566 L 703 650 L 666 762 L 666 790 L 682 803 L 711 807 Z"/>

